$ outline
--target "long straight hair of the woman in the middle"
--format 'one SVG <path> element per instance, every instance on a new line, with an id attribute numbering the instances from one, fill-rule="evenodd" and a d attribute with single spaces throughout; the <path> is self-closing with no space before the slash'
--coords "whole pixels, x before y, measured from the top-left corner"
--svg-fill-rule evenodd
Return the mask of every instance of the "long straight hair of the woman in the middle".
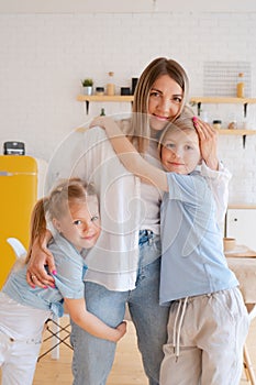
<path id="1" fill-rule="evenodd" d="M 174 117 L 174 120 L 180 114 L 187 102 L 189 79 L 180 64 L 172 59 L 167 59 L 166 57 L 158 57 L 149 63 L 137 81 L 133 101 L 131 132 L 140 153 L 146 152 L 148 146 L 148 138 L 151 138 L 147 113 L 149 92 L 153 84 L 162 75 L 168 75 L 182 89 L 182 101 L 177 116 Z"/>

